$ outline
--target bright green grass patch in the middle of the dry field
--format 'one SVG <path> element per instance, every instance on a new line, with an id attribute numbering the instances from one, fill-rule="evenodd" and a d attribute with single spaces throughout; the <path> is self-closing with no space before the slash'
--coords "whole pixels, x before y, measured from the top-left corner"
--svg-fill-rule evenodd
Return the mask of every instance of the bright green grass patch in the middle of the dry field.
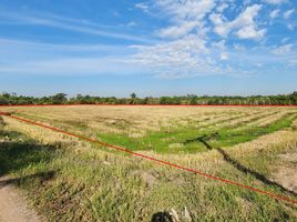
<path id="1" fill-rule="evenodd" d="M 129 134 L 125 133 L 99 133 L 98 137 L 102 141 L 121 145 L 133 151 L 153 150 L 158 153 L 195 153 L 207 151 L 207 148 L 199 140 L 195 140 L 204 135 L 216 134 L 216 137 L 207 141 L 214 148 L 232 147 L 289 128 L 296 119 L 296 115 L 294 118 L 289 118 L 289 115 L 284 117 L 284 119 L 268 127 L 242 128 L 237 125 L 236 128 L 197 129 L 190 124 L 187 127 L 175 127 L 174 129 L 163 128 L 157 132 L 147 132 L 146 135 L 141 138 L 130 138 Z M 187 142 L 188 140 L 193 140 L 193 142 Z"/>

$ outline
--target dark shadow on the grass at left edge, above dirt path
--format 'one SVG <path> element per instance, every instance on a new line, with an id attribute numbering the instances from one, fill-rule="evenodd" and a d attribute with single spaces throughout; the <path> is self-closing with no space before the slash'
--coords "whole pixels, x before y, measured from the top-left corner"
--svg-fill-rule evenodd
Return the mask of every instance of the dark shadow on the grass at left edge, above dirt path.
<path id="1" fill-rule="evenodd" d="M 37 144 L 19 132 L 0 129 L 0 178 L 40 162 L 48 163 L 53 158 L 54 151 L 54 147 Z M 20 184 L 32 179 L 40 179 L 42 182 L 52 179 L 54 173 L 54 171 L 48 171 L 23 178 L 4 178 L 0 180 L 0 186 L 11 183 Z"/>

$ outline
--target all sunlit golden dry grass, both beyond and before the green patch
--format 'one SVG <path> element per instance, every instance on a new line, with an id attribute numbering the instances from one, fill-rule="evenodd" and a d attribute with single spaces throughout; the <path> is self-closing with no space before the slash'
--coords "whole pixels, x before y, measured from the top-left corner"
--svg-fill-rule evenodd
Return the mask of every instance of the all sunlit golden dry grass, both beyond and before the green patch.
<path id="1" fill-rule="evenodd" d="M 244 127 L 247 121 L 263 121 L 267 114 L 296 112 L 290 108 L 158 108 L 158 107 L 69 107 L 6 108 L 42 123 L 84 133 L 96 139 L 100 131 L 140 133 L 162 128 Z M 264 114 L 265 113 L 265 114 Z M 273 114 L 275 113 L 275 114 Z M 238 118 L 238 119 L 237 119 Z M 111 152 L 68 135 L 4 118 L 7 132 L 21 132 L 39 144 L 61 149 L 50 163 L 31 164 L 16 175 L 59 169 L 52 181 L 27 184 L 38 193 L 33 202 L 50 220 L 61 221 L 151 221 L 156 212 L 187 208 L 194 221 L 272 221 L 296 220 L 296 208 L 260 194 L 222 184 L 165 165 Z M 235 122 L 236 121 L 236 122 Z M 270 121 L 270 120 L 269 120 Z M 80 125 L 80 124 L 83 125 Z M 293 124 L 296 124 L 296 120 Z M 79 125 L 79 127 L 78 127 Z M 186 128 L 185 128 L 186 129 Z M 223 150 L 247 169 L 273 180 L 280 153 L 297 152 L 297 132 L 289 129 L 263 135 L 250 142 Z M 253 185 L 293 198 L 242 172 L 213 149 L 202 153 L 137 151 L 191 169 Z M 75 203 L 75 204 L 74 204 Z M 182 213 L 181 213 L 182 215 Z"/>

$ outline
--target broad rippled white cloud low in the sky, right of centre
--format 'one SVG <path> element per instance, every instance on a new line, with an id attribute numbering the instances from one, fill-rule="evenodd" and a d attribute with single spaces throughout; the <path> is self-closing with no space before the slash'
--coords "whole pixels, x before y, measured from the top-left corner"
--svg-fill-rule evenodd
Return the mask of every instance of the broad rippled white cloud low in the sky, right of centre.
<path id="1" fill-rule="evenodd" d="M 134 46 L 133 49 L 139 53 L 131 62 L 144 65 L 158 78 L 246 75 L 252 70 L 247 72 L 240 68 L 240 58 L 228 52 L 225 40 L 208 46 L 206 40 L 194 34 L 152 47 Z"/>

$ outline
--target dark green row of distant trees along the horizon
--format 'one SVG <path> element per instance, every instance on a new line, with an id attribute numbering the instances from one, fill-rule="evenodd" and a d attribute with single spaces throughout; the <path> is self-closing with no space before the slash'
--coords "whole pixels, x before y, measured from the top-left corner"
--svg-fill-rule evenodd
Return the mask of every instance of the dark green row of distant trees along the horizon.
<path id="1" fill-rule="evenodd" d="M 297 104 L 297 91 L 290 94 L 250 95 L 250 97 L 219 97 L 195 95 L 137 98 L 133 92 L 130 98 L 91 97 L 78 94 L 68 98 L 65 93 L 50 97 L 24 97 L 17 93 L 1 93 L 0 105 L 4 104 Z"/>

